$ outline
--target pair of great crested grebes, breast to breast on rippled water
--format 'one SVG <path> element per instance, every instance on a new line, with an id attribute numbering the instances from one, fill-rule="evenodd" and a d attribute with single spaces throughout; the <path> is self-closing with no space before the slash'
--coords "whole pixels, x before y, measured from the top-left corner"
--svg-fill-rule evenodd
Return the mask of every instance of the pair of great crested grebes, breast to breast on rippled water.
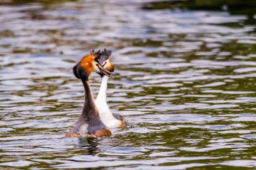
<path id="1" fill-rule="evenodd" d="M 66 133 L 65 137 L 88 137 L 110 136 L 110 128 L 123 128 L 128 125 L 127 120 L 119 114 L 112 114 L 106 103 L 106 89 L 108 77 L 113 77 L 115 67 L 110 59 L 111 51 L 91 50 L 73 67 L 73 74 L 81 79 L 84 85 L 85 101 L 82 114 L 80 114 L 75 127 Z M 89 77 L 92 72 L 102 77 L 100 91 L 94 102 L 90 89 Z"/>

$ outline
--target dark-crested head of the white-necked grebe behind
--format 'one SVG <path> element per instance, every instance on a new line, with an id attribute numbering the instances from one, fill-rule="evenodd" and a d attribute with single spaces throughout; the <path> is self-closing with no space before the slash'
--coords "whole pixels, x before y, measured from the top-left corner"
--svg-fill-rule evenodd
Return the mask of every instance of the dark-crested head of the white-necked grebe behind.
<path id="1" fill-rule="evenodd" d="M 109 71 L 110 73 L 115 71 L 115 67 L 112 64 L 112 60 L 110 56 L 111 54 L 112 54 L 111 50 L 104 48 L 99 56 L 100 64 L 104 69 L 106 69 L 106 71 Z M 98 74 L 101 75 L 101 77 L 104 76 L 102 73 L 98 73 Z"/>

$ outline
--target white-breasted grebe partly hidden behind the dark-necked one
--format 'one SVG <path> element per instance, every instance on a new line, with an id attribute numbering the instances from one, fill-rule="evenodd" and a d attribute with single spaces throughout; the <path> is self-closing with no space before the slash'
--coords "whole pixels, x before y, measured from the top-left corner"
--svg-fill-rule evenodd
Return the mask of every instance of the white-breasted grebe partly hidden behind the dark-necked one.
<path id="1" fill-rule="evenodd" d="M 115 70 L 114 65 L 111 62 L 111 50 L 107 50 L 104 48 L 102 50 L 102 54 L 99 57 L 99 62 L 104 69 L 107 71 L 113 72 Z M 128 122 L 123 116 L 119 114 L 113 114 L 108 108 L 108 104 L 106 103 L 106 89 L 108 86 L 108 76 L 99 73 L 102 77 L 102 83 L 100 85 L 100 91 L 98 92 L 97 99 L 95 100 L 96 107 L 100 113 L 100 120 L 108 127 L 108 128 L 123 128 L 128 126 Z"/>

